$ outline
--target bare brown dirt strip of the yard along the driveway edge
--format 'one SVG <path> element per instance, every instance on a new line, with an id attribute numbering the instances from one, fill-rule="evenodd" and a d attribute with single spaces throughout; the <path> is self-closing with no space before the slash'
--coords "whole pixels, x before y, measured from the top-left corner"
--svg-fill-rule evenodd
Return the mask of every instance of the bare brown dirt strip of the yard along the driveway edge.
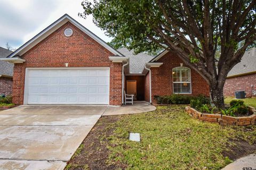
<path id="1" fill-rule="evenodd" d="M 110 123 L 119 120 L 121 116 L 103 116 L 95 124 L 94 128 L 84 139 L 84 145 L 80 154 L 71 158 L 68 164 L 71 164 L 66 169 L 125 169 L 126 165 L 123 164 L 108 164 L 106 161 L 109 156 L 107 149 L 108 137 L 113 133 L 114 127 L 109 128 Z"/>

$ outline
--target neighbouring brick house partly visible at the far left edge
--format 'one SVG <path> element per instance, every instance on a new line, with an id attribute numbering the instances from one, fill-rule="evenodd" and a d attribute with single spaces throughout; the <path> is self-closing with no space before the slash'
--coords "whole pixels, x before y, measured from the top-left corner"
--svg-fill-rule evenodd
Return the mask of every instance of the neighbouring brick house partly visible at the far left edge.
<path id="1" fill-rule="evenodd" d="M 12 51 L 0 47 L 0 58 L 9 56 Z M 13 64 L 0 61 L 0 95 L 12 94 Z"/>

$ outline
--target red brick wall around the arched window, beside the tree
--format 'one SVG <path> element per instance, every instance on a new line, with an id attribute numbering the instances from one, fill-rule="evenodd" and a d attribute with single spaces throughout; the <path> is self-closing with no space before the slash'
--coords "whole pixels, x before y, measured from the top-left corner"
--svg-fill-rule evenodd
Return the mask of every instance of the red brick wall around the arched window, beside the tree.
<path id="1" fill-rule="evenodd" d="M 165 54 L 157 62 L 163 63 L 163 65 L 151 68 L 151 100 L 154 104 L 156 103 L 154 100 L 155 95 L 163 96 L 173 94 L 172 69 L 179 67 L 180 63 L 183 63 L 175 53 L 171 52 Z M 184 63 L 183 66 L 189 67 Z M 191 95 L 210 95 L 207 82 L 193 69 L 191 69 L 191 88 Z"/>

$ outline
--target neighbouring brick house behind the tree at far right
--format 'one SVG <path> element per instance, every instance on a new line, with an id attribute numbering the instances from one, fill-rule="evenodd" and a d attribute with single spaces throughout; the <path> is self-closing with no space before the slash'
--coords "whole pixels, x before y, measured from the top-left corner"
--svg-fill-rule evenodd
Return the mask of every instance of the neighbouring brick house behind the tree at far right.
<path id="1" fill-rule="evenodd" d="M 247 50 L 240 63 L 236 64 L 228 73 L 224 86 L 225 96 L 235 96 L 235 91 L 245 91 L 246 97 L 256 97 L 252 94 L 256 90 L 256 48 Z"/>

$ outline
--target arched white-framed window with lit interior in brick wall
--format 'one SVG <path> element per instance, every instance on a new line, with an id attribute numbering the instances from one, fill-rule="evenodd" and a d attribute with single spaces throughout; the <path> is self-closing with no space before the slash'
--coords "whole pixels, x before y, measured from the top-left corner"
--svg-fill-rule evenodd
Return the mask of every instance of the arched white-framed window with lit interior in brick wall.
<path id="1" fill-rule="evenodd" d="M 187 67 L 175 67 L 172 69 L 173 93 L 191 94 L 191 75 Z"/>

